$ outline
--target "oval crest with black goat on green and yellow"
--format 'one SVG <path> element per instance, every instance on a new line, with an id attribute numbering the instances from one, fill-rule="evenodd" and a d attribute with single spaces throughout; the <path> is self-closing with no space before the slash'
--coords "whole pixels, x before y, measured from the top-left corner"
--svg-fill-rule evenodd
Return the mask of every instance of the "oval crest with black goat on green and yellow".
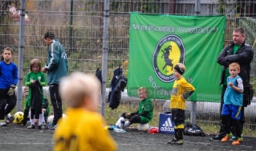
<path id="1" fill-rule="evenodd" d="M 173 67 L 177 63 L 185 62 L 185 47 L 177 35 L 169 34 L 162 38 L 156 46 L 152 57 L 152 65 L 156 76 L 164 82 L 176 79 Z"/>

